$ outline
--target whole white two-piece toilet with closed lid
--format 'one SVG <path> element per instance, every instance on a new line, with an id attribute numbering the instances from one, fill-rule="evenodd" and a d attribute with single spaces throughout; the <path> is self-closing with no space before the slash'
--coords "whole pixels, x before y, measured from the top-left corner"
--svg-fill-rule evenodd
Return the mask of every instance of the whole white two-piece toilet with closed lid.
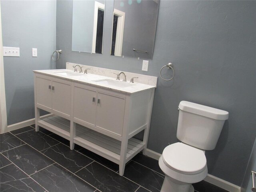
<path id="1" fill-rule="evenodd" d="M 194 192 L 192 183 L 208 172 L 204 150 L 213 150 L 228 112 L 181 101 L 177 138 L 181 141 L 164 148 L 159 166 L 165 173 L 161 192 Z"/>

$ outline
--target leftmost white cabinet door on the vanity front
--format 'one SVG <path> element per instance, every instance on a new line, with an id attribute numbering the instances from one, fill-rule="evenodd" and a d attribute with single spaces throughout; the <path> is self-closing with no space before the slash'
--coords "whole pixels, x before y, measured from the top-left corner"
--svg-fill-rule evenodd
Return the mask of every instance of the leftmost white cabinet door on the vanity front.
<path id="1" fill-rule="evenodd" d="M 36 77 L 36 104 L 52 109 L 52 81 Z"/>

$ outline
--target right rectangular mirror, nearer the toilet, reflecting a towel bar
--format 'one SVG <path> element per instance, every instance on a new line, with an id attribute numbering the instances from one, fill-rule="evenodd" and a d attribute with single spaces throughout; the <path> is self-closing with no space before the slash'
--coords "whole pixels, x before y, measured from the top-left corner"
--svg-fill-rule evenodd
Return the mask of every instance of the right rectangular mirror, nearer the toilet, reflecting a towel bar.
<path id="1" fill-rule="evenodd" d="M 115 0 L 111 55 L 152 59 L 159 0 Z"/>

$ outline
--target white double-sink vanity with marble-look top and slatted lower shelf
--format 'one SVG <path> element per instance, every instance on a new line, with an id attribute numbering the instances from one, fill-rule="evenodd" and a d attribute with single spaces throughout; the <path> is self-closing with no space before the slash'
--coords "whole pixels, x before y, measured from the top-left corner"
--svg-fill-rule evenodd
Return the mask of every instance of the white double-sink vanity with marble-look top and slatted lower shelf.
<path id="1" fill-rule="evenodd" d="M 39 126 L 119 164 L 145 154 L 157 77 L 80 65 L 88 74 L 66 69 L 34 71 L 36 131 Z M 79 70 L 78 70 L 79 71 Z M 130 82 L 133 77 L 134 83 Z M 50 112 L 40 118 L 40 109 Z M 133 138 L 144 130 L 143 141 Z"/>

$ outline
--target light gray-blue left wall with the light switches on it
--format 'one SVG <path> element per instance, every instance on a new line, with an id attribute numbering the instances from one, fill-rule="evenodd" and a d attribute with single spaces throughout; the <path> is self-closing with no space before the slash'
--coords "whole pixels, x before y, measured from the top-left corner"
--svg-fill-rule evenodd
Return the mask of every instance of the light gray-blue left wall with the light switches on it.
<path id="1" fill-rule="evenodd" d="M 4 57 L 8 125 L 34 118 L 32 70 L 49 69 L 56 50 L 56 1 L 1 0 L 3 46 L 20 57 Z M 38 57 L 32 58 L 32 48 Z"/>

